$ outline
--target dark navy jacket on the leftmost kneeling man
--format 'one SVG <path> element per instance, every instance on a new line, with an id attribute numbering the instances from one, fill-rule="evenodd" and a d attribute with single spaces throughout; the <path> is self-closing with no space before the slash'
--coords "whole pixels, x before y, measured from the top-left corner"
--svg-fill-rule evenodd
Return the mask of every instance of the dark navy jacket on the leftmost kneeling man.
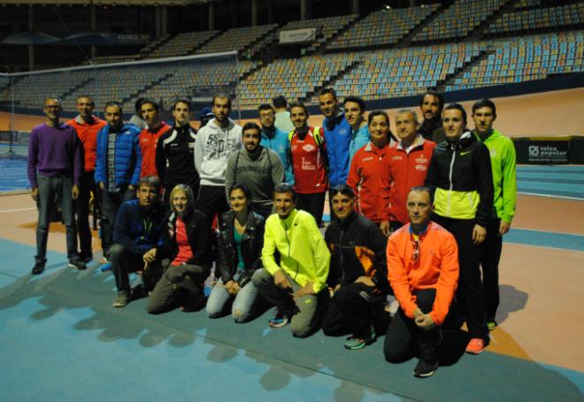
<path id="1" fill-rule="evenodd" d="M 162 231 L 166 228 L 165 210 L 156 205 L 145 214 L 140 200 L 126 201 L 119 206 L 113 228 L 113 243 L 122 244 L 136 255 L 162 247 Z"/>

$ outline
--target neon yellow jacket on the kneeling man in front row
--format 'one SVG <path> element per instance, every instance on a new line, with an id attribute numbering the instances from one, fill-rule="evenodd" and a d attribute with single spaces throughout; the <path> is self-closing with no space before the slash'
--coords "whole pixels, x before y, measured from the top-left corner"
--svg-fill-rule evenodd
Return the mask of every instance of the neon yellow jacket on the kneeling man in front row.
<path id="1" fill-rule="evenodd" d="M 274 257 L 276 250 L 280 252 L 280 265 Z M 313 290 L 319 293 L 327 287 L 330 259 L 325 239 L 310 213 L 295 209 L 285 220 L 275 213 L 265 220 L 262 262 L 270 274 L 282 269 L 300 286 L 314 282 Z"/>

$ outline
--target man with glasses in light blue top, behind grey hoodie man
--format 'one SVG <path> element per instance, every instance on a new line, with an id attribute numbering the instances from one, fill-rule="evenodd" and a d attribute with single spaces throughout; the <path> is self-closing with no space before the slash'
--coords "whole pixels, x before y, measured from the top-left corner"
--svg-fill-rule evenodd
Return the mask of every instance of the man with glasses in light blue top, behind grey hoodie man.
<path id="1" fill-rule="evenodd" d="M 262 124 L 262 140 L 259 144 L 278 154 L 282 165 L 284 166 L 286 182 L 294 184 L 292 162 L 290 161 L 290 142 L 288 141 L 288 132 L 282 131 L 280 128 L 274 126 L 274 112 L 274 108 L 271 104 L 260 104 L 257 108 L 257 116 Z M 292 124 L 291 121 L 290 124 Z"/>

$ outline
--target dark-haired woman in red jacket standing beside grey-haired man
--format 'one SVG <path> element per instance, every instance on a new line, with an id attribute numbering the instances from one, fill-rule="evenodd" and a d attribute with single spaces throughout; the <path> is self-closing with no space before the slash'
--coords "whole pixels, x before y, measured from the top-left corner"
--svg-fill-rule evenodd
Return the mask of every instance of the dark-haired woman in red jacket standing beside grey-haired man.
<path id="1" fill-rule="evenodd" d="M 357 213 L 379 224 L 381 160 L 393 143 L 388 113 L 369 113 L 368 128 L 371 141 L 355 152 L 347 185 L 355 192 Z"/>

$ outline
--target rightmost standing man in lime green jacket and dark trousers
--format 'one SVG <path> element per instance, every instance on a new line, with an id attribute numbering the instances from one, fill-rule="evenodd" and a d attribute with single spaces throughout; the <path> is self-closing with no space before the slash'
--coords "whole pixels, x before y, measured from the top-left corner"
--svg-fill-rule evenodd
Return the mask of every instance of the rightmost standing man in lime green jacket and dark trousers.
<path id="1" fill-rule="evenodd" d="M 502 135 L 493 123 L 496 107 L 490 99 L 481 99 L 473 104 L 474 135 L 487 145 L 493 170 L 494 209 L 488 223 L 487 238 L 483 244 L 480 265 L 483 272 L 487 326 L 496 328 L 496 309 L 499 306 L 499 259 L 503 248 L 503 235 L 509 232 L 515 215 L 517 202 L 517 174 L 515 147 L 509 138 Z"/>

